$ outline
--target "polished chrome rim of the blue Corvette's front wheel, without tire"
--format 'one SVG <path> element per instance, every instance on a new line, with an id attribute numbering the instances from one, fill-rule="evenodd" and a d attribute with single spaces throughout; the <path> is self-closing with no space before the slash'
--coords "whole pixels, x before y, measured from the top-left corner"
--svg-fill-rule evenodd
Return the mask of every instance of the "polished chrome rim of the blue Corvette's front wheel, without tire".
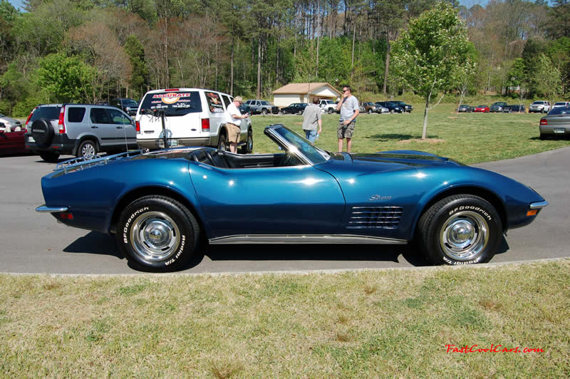
<path id="1" fill-rule="evenodd" d="M 489 242 L 489 225 L 478 213 L 457 212 L 447 219 L 440 232 L 444 254 L 457 261 L 474 259 Z"/>

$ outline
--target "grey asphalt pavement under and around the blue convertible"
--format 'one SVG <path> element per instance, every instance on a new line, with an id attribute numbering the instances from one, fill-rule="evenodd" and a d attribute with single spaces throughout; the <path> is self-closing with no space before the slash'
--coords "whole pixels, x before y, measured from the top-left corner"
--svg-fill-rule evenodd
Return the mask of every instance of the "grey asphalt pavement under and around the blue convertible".
<path id="1" fill-rule="evenodd" d="M 0 157 L 0 271 L 48 274 L 135 273 L 106 234 L 58 224 L 34 209 L 43 204 L 40 180 L 53 170 L 37 155 Z M 537 220 L 509 231 L 492 262 L 570 256 L 570 147 L 477 167 L 530 185 L 548 202 Z M 413 247 L 401 245 L 206 246 L 185 271 L 255 272 L 422 266 Z"/>

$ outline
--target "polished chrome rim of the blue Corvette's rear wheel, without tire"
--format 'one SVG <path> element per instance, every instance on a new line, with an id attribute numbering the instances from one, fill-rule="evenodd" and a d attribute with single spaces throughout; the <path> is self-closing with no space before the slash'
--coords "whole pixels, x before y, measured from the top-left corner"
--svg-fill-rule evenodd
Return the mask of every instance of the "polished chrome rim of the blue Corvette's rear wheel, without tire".
<path id="1" fill-rule="evenodd" d="M 175 254 L 180 245 L 180 230 L 167 214 L 147 212 L 133 221 L 130 240 L 140 259 L 165 261 Z"/>

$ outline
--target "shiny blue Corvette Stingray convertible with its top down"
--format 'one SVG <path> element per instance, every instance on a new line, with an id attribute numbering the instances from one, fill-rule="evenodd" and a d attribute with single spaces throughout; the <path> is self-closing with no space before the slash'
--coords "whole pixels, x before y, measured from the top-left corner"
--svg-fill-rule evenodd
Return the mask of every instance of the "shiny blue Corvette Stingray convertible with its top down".
<path id="1" fill-rule="evenodd" d="M 180 269 L 209 244 L 407 244 L 433 264 L 489 261 L 548 203 L 494 172 L 426 152 L 326 152 L 283 125 L 276 154 L 211 147 L 63 162 L 41 180 L 71 227 L 113 233 L 140 269 Z M 382 254 L 381 249 L 378 254 Z"/>

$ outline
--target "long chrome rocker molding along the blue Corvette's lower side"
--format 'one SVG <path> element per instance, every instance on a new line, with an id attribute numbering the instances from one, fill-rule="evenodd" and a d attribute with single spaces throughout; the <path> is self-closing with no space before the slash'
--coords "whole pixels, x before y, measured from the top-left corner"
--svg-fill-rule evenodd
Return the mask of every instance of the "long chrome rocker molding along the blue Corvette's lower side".
<path id="1" fill-rule="evenodd" d="M 336 235 L 237 235 L 209 239 L 210 244 L 408 244 L 405 239 Z"/>

